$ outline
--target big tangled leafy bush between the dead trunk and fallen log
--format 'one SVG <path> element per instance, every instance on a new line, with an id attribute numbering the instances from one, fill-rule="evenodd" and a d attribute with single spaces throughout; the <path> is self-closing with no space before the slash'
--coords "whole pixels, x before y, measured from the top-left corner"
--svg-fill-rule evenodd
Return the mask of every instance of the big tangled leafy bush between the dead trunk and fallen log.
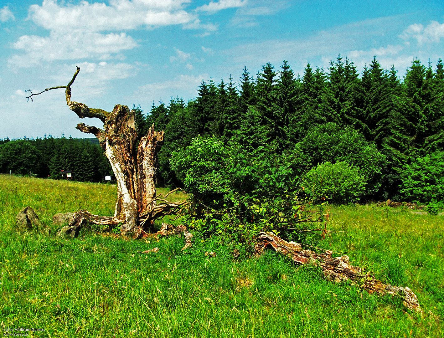
<path id="1" fill-rule="evenodd" d="M 226 244 L 247 246 L 262 230 L 293 233 L 312 219 L 311 200 L 299 196 L 293 163 L 291 156 L 266 147 L 247 153 L 217 138 L 194 138 L 171 157 L 171 168 L 191 196 L 187 225 L 195 236 L 217 235 Z"/>

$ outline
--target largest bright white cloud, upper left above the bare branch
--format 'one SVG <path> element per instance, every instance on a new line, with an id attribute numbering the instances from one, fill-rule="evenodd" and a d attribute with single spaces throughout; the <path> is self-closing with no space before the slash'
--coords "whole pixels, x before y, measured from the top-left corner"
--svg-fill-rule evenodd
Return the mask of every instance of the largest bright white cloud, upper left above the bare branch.
<path id="1" fill-rule="evenodd" d="M 138 46 L 126 30 L 181 24 L 184 29 L 217 30 L 187 12 L 190 0 L 81 1 L 76 5 L 44 0 L 29 8 L 29 18 L 48 29 L 48 36 L 23 35 L 12 47 L 23 51 L 9 59 L 12 67 L 56 60 L 123 59 L 123 51 Z M 7 8 L 6 8 L 7 9 Z M 5 8 L 2 10 L 4 11 Z"/>

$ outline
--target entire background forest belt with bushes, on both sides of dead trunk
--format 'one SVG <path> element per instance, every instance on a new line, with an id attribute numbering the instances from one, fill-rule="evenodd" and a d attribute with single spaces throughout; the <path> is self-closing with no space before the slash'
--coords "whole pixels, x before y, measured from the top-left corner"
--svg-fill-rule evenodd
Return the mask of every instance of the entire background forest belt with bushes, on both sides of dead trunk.
<path id="1" fill-rule="evenodd" d="M 444 200 L 441 59 L 415 59 L 405 75 L 383 69 L 376 57 L 361 73 L 341 56 L 327 70 L 307 64 L 303 75 L 286 61 L 266 63 L 256 75 L 245 67 L 238 79 L 202 80 L 188 102 L 132 109 L 139 135 L 153 123 L 165 132 L 159 187 L 205 191 L 208 201 L 257 184 L 264 191 L 301 187 L 341 204 Z M 74 181 L 90 182 L 112 174 L 98 142 L 45 136 L 0 143 L 0 173 L 60 179 L 69 169 Z"/>

